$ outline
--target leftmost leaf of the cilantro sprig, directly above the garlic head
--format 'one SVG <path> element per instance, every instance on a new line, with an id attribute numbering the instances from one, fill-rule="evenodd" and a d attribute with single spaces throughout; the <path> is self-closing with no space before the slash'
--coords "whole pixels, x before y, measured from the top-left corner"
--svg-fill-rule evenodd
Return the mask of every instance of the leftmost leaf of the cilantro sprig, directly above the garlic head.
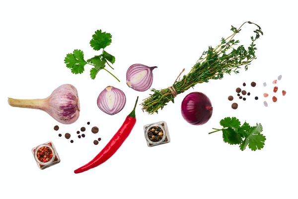
<path id="1" fill-rule="evenodd" d="M 67 54 L 64 63 L 74 74 L 81 74 L 84 72 L 84 66 L 87 64 L 84 60 L 84 53 L 81 50 L 74 50 L 73 53 Z"/>

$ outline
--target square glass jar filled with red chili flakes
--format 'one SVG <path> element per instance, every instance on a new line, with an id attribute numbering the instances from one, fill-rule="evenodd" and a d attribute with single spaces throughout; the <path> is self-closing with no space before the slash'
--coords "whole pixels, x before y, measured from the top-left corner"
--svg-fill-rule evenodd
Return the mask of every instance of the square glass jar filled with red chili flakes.
<path id="1" fill-rule="evenodd" d="M 60 163 L 59 155 L 51 141 L 34 147 L 32 149 L 32 154 L 39 169 L 46 169 Z"/>

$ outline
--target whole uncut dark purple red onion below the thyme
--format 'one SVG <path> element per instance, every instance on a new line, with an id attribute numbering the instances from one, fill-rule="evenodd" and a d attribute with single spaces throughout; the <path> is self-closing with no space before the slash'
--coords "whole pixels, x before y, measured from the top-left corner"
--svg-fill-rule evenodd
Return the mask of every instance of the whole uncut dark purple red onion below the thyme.
<path id="1" fill-rule="evenodd" d="M 181 114 L 190 124 L 202 125 L 207 123 L 212 116 L 212 112 L 212 103 L 203 93 L 193 92 L 182 100 Z"/>

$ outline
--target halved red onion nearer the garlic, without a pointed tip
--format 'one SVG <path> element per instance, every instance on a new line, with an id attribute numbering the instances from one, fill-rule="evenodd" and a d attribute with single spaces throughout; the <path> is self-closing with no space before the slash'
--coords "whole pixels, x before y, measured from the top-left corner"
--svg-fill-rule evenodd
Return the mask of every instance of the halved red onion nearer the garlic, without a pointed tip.
<path id="1" fill-rule="evenodd" d="M 123 91 L 115 87 L 108 86 L 97 98 L 97 106 L 103 112 L 114 115 L 120 112 L 126 103 L 126 97 Z"/>

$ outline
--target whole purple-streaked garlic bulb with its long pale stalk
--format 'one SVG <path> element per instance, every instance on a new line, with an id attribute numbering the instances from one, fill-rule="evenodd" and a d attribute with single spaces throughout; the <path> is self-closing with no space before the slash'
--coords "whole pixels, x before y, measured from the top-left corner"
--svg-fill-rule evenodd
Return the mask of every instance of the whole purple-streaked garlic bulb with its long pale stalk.
<path id="1" fill-rule="evenodd" d="M 8 98 L 8 104 L 14 107 L 43 110 L 63 124 L 72 124 L 79 116 L 77 91 L 70 84 L 61 85 L 45 99 L 18 100 Z"/>

